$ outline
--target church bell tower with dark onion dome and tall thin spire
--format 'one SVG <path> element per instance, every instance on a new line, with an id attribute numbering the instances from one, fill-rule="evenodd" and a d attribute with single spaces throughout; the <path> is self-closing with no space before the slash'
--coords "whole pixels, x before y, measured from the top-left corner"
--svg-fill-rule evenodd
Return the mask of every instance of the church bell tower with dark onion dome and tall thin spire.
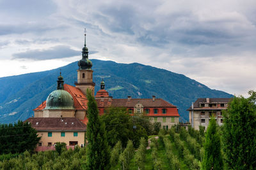
<path id="1" fill-rule="evenodd" d="M 86 90 L 90 89 L 92 91 L 92 96 L 94 96 L 95 83 L 93 82 L 93 71 L 92 71 L 92 61 L 88 59 L 88 48 L 86 47 L 86 30 L 84 29 L 84 47 L 82 51 L 82 59 L 78 61 L 77 65 L 77 82 L 75 85 L 77 88 L 81 89 L 84 94 Z"/>

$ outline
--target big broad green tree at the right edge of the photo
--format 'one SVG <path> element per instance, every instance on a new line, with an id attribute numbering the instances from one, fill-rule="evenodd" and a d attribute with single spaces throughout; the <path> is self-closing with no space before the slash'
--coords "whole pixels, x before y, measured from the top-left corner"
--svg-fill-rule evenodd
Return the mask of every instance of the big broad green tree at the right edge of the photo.
<path id="1" fill-rule="evenodd" d="M 256 169 L 255 92 L 234 97 L 224 112 L 223 151 L 228 169 Z"/>

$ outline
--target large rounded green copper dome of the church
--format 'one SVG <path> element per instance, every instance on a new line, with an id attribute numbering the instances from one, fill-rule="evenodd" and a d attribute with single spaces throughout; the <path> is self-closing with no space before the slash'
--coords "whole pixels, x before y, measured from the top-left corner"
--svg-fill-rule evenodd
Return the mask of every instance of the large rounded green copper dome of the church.
<path id="1" fill-rule="evenodd" d="M 73 97 L 65 90 L 55 90 L 47 97 L 45 109 L 74 110 Z"/>

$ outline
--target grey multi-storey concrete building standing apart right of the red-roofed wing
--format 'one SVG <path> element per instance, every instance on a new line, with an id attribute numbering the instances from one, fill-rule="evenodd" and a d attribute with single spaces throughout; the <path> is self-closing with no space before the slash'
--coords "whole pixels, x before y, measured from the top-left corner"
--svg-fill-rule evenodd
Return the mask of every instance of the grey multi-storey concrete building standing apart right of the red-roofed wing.
<path id="1" fill-rule="evenodd" d="M 199 126 L 207 129 L 211 117 L 216 119 L 218 125 L 222 125 L 222 110 L 227 110 L 228 103 L 231 98 L 198 98 L 195 103 L 188 108 L 189 123 L 195 129 L 199 130 Z"/>

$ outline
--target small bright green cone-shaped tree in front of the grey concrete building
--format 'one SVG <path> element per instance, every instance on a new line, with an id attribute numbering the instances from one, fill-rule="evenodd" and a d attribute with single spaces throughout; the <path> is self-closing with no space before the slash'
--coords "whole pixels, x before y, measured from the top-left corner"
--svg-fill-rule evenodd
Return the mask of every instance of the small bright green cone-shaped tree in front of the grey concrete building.
<path id="1" fill-rule="evenodd" d="M 210 124 L 207 127 L 204 150 L 204 160 L 202 162 L 203 169 L 223 169 L 220 134 L 218 133 L 214 117 L 211 117 Z"/>

